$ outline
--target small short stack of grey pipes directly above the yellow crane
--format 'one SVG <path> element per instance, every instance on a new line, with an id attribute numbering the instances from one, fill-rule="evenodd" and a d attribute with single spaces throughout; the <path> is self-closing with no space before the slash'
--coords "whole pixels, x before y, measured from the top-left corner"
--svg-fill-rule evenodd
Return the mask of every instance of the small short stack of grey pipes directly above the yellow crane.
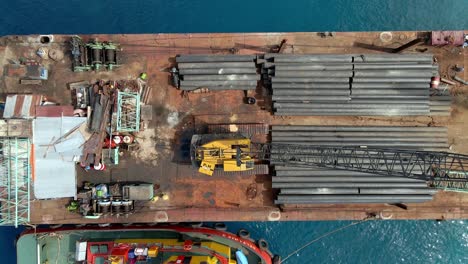
<path id="1" fill-rule="evenodd" d="M 255 90 L 255 55 L 179 55 L 176 57 L 180 89 Z"/>

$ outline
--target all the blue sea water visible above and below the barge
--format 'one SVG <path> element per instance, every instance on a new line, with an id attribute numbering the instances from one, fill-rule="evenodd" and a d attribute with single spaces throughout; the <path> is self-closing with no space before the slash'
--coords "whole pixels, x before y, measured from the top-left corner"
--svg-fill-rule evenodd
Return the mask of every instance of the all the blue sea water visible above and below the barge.
<path id="1" fill-rule="evenodd" d="M 300 32 L 468 29 L 468 0 L 2 0 L 12 34 Z M 328 236 L 286 263 L 468 263 L 468 221 L 371 221 Z M 348 225 L 228 223 L 286 256 Z M 15 263 L 19 229 L 0 227 L 1 263 Z"/>

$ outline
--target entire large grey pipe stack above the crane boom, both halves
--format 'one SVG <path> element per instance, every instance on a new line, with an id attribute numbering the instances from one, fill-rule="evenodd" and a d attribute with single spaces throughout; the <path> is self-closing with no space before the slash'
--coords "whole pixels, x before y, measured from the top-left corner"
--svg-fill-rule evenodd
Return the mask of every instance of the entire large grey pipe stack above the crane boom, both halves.
<path id="1" fill-rule="evenodd" d="M 266 54 L 265 60 L 276 115 L 430 115 L 435 106 L 431 54 Z"/>

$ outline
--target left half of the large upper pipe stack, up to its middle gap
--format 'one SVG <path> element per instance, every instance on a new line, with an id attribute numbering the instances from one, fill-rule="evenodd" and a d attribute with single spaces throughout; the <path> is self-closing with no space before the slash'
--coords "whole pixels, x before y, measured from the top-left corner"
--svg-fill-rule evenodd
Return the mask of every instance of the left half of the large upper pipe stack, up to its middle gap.
<path id="1" fill-rule="evenodd" d="M 276 114 L 326 113 L 350 101 L 352 55 L 265 54 Z"/>

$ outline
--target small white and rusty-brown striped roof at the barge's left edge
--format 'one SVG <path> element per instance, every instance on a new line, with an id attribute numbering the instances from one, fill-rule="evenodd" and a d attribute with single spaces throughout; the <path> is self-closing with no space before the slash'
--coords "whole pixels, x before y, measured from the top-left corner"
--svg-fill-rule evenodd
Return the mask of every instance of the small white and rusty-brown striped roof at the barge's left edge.
<path id="1" fill-rule="evenodd" d="M 36 116 L 36 106 L 40 105 L 41 101 L 42 95 L 8 95 L 3 111 L 3 118 L 34 118 Z"/>

